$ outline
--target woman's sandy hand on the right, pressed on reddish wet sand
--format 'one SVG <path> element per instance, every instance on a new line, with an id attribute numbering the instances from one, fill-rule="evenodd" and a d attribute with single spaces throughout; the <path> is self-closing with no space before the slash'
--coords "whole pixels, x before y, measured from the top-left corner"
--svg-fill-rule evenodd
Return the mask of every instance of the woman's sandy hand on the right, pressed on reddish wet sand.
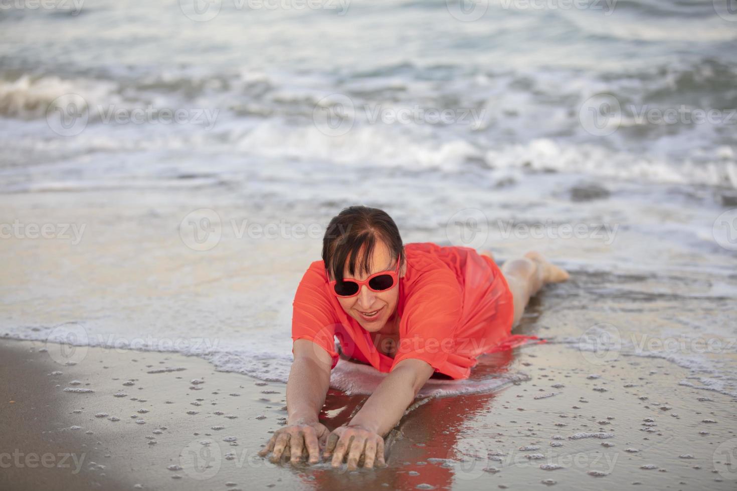
<path id="1" fill-rule="evenodd" d="M 328 459 L 332 454 L 332 467 L 340 467 L 343 458 L 348 457 L 349 470 L 358 467 L 361 456 L 364 457 L 363 467 L 371 469 L 374 462 L 379 467 L 385 467 L 384 439 L 374 431 L 359 425 L 346 425 L 335 428 L 327 438 L 323 456 Z"/>

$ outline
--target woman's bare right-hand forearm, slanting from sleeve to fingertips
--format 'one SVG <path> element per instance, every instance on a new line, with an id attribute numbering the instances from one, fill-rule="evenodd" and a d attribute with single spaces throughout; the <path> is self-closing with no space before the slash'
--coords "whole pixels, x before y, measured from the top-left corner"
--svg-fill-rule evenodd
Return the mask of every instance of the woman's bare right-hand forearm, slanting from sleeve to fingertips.
<path id="1" fill-rule="evenodd" d="M 362 455 L 363 467 L 374 467 L 374 461 L 384 465 L 383 437 L 399 423 L 433 371 L 430 364 L 416 358 L 399 361 L 350 423 L 330 434 L 324 457 L 332 454 L 332 466 L 338 467 L 347 455 L 350 470 Z"/>

